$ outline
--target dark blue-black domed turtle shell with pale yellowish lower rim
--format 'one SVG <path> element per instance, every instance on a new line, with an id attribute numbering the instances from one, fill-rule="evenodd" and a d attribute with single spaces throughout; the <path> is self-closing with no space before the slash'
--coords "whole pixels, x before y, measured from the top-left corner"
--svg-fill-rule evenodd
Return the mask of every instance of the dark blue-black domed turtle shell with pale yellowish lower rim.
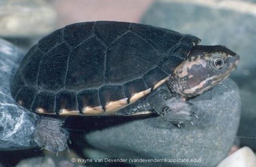
<path id="1" fill-rule="evenodd" d="M 164 83 L 199 42 L 143 24 L 67 25 L 29 50 L 12 96 L 38 113 L 111 115 Z"/>

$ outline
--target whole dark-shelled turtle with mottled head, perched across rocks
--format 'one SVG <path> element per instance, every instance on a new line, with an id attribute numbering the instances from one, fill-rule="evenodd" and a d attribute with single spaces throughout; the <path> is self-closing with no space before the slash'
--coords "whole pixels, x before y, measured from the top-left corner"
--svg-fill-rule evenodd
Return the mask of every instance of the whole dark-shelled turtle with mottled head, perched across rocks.
<path id="1" fill-rule="evenodd" d="M 11 93 L 41 115 L 34 140 L 44 149 L 67 148 L 60 118 L 157 113 L 180 126 L 198 117 L 187 99 L 220 83 L 239 55 L 223 45 L 131 22 L 67 25 L 36 43 L 20 62 Z"/>

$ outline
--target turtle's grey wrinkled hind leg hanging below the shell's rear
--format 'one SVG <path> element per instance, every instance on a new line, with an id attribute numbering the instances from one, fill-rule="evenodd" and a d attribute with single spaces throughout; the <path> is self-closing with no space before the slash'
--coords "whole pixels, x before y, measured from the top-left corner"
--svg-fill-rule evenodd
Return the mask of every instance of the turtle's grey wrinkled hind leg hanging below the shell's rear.
<path id="1" fill-rule="evenodd" d="M 68 131 L 61 126 L 61 119 L 41 116 L 36 124 L 36 130 L 33 136 L 34 141 L 39 147 L 51 152 L 68 149 Z"/>

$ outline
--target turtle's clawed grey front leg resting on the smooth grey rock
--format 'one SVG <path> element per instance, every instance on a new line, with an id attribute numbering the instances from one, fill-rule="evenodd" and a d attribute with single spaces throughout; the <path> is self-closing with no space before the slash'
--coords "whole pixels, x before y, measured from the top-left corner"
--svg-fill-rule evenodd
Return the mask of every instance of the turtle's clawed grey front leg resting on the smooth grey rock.
<path id="1" fill-rule="evenodd" d="M 148 97 L 150 106 L 164 119 L 180 127 L 182 122 L 191 122 L 193 117 L 197 117 L 193 112 L 196 106 L 188 101 L 184 101 L 179 96 L 171 96 L 168 89 L 159 89 Z"/>

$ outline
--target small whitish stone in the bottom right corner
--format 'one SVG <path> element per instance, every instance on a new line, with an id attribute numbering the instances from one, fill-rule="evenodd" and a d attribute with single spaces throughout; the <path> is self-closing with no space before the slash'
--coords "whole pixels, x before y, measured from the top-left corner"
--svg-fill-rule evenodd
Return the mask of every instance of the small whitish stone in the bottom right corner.
<path id="1" fill-rule="evenodd" d="M 234 154 L 226 157 L 221 161 L 217 167 L 229 167 L 229 166 L 237 166 L 237 167 L 255 167 L 256 166 L 256 157 L 253 153 L 252 149 L 249 147 L 243 147 Z"/>

